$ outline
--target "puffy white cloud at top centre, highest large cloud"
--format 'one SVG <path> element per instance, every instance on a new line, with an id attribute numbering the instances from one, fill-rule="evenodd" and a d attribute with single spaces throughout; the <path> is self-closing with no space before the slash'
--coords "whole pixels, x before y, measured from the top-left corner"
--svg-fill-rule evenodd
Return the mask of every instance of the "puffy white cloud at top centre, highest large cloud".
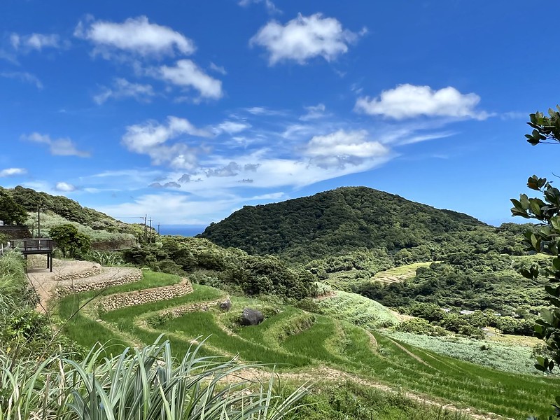
<path id="1" fill-rule="evenodd" d="M 363 33 L 365 29 L 360 32 Z M 249 43 L 266 48 L 271 66 L 287 60 L 304 64 L 313 57 L 330 62 L 347 52 L 348 45 L 356 42 L 360 34 L 343 29 L 335 18 L 316 13 L 309 17 L 298 15 L 286 25 L 272 20 Z"/>

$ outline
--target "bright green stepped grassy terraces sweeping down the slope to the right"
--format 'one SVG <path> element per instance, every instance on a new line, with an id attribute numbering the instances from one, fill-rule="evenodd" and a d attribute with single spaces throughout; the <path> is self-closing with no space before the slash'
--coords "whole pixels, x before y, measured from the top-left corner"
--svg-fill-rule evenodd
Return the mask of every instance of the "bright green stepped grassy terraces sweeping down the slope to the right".
<path id="1" fill-rule="evenodd" d="M 103 294 L 177 281 L 176 276 L 146 272 L 142 281 L 109 288 Z M 64 297 L 59 315 L 69 318 L 94 295 Z M 114 339 L 117 351 L 125 344 L 150 343 L 164 334 L 176 355 L 184 353 L 191 340 L 209 337 L 204 346 L 207 355 L 239 353 L 241 360 L 276 364 L 280 371 L 328 365 L 430 399 L 440 398 L 458 407 L 474 407 L 514 419 L 526 419 L 531 414 L 546 418 L 550 413 L 549 401 L 554 400 L 560 386 L 560 381 L 550 377 L 493 370 L 400 343 L 379 332 L 374 332 L 375 346 L 363 328 L 342 319 L 246 298 L 232 297 L 229 313 L 211 307 L 209 311 L 146 323 L 157 318 L 158 311 L 222 297 L 221 290 L 195 285 L 190 295 L 104 314 L 96 313 L 93 300 L 66 323 L 64 330 L 83 345 Z M 237 327 L 235 318 L 245 306 L 262 309 L 267 319 L 255 327 Z M 97 322 L 97 318 L 102 322 Z"/>

